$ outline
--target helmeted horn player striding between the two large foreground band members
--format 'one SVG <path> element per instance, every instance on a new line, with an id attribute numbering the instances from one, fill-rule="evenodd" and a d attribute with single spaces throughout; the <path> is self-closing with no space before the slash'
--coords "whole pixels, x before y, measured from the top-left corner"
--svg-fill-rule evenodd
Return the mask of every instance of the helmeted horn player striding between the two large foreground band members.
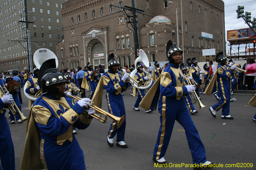
<path id="1" fill-rule="evenodd" d="M 108 112 L 117 117 L 125 115 L 124 100 L 122 96 L 122 91 L 126 91 L 128 83 L 126 80 L 129 78 L 129 74 L 125 73 L 123 77 L 120 76 L 118 68 L 120 66 L 119 61 L 114 58 L 114 54 L 108 56 L 108 71 L 105 72 L 100 78 L 103 81 L 104 87 L 107 90 L 106 98 L 108 102 Z M 102 83 L 99 83 L 97 89 L 102 86 Z M 103 89 L 103 88 L 102 88 Z M 94 96 L 94 98 L 102 99 L 102 92 Z M 114 146 L 114 137 L 116 136 L 116 145 L 121 146 L 122 148 L 127 148 L 127 144 L 124 143 L 124 133 L 126 126 L 126 118 L 123 124 L 117 129 L 115 122 L 112 122 L 108 130 L 107 143 L 108 146 Z"/>

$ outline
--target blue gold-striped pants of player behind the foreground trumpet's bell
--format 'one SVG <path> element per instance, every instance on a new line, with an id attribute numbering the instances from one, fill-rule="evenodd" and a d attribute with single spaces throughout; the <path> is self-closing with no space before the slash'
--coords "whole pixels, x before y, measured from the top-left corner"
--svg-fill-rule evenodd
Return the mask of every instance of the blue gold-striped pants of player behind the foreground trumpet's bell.
<path id="1" fill-rule="evenodd" d="M 125 115 L 124 100 L 122 94 L 107 93 L 108 112 L 114 116 L 122 117 Z M 117 129 L 116 122 L 112 122 L 108 130 L 108 138 L 112 139 L 116 136 L 116 142 L 124 141 L 126 127 L 126 118 L 123 124 Z"/>

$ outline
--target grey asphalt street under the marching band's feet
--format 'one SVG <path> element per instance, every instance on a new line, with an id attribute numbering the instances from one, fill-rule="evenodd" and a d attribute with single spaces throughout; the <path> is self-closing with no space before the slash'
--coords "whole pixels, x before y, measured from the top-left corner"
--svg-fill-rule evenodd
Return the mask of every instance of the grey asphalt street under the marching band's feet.
<path id="1" fill-rule="evenodd" d="M 125 143 L 128 145 L 128 148 L 124 149 L 116 145 L 112 148 L 108 146 L 107 132 L 110 122 L 104 124 L 94 119 L 87 129 L 77 129 L 78 134 L 75 136 L 84 151 L 87 170 L 148 170 L 157 168 L 154 167 L 155 164 L 152 161 L 152 157 L 160 127 L 160 114 L 158 111 L 147 114 L 141 108 L 139 112 L 133 110 L 132 107 L 137 97 L 134 98 L 129 93 L 130 91 L 126 91 L 123 96 L 126 109 Z M 86 92 L 86 96 L 88 95 L 89 92 Z M 105 95 L 106 91 L 103 93 L 102 109 L 108 111 Z M 78 96 L 80 97 L 80 95 Z M 221 110 L 217 112 L 217 117 L 213 118 L 209 107 L 218 101 L 214 95 L 201 95 L 200 97 L 205 107 L 198 110 L 199 105 L 196 103 L 195 108 L 199 113 L 191 115 L 191 117 L 203 141 L 207 160 L 224 164 L 224 166 L 225 164 L 236 163 L 253 164 L 253 167 L 223 167 L 213 169 L 256 170 L 256 122 L 252 121 L 256 109 L 248 104 L 253 95 L 235 93 L 235 95 L 231 96 L 232 98 L 236 98 L 236 101 L 230 103 L 230 115 L 234 117 L 234 120 L 221 119 Z M 28 117 L 28 99 L 24 95 L 23 88 L 22 100 L 22 112 Z M 6 116 L 8 117 L 7 113 Z M 111 121 L 111 119 L 108 118 L 108 121 Z M 223 125 L 223 123 L 226 124 Z M 15 150 L 15 166 L 16 169 L 20 169 L 27 122 L 23 122 L 22 124 L 16 122 L 15 124 L 9 125 Z M 183 130 L 182 126 L 178 122 L 175 122 L 172 137 L 164 158 L 172 164 L 192 164 L 191 152 L 185 132 L 180 130 Z M 216 135 L 214 136 L 212 133 Z M 56 158 L 56 161 L 58 159 L 65 158 Z M 183 166 L 177 168 L 168 167 L 167 169 L 192 170 L 193 168 Z"/>

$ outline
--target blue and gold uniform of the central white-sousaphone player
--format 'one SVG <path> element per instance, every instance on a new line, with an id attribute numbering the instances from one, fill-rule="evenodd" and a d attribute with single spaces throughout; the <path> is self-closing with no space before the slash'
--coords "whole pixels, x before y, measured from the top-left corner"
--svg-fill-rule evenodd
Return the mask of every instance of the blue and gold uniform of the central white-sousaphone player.
<path id="1" fill-rule="evenodd" d="M 138 65 L 139 67 L 142 65 Z M 145 81 L 146 73 L 143 71 L 141 72 L 137 66 L 137 72 L 134 75 L 134 79 L 137 81 Z M 138 108 L 140 106 L 140 101 L 145 97 L 145 90 L 144 89 L 136 89 L 136 92 L 138 92 L 138 98 L 134 104 L 133 108 Z M 147 110 L 146 110 L 147 111 Z"/>

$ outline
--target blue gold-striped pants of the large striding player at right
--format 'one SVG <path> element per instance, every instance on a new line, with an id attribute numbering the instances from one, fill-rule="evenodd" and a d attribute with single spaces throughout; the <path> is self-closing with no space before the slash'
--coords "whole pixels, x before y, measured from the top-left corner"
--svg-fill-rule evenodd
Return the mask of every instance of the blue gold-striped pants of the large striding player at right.
<path id="1" fill-rule="evenodd" d="M 177 100 L 172 102 L 166 99 L 166 105 L 163 105 L 165 109 L 162 111 L 163 113 L 160 113 L 161 126 L 159 128 L 154 149 L 154 158 L 159 160 L 164 157 L 172 136 L 172 129 L 176 120 L 185 130 L 188 146 L 192 154 L 193 163 L 204 163 L 207 161 L 204 144 L 202 143 L 196 126 L 192 121 L 191 116 L 189 115 L 184 100 L 180 100 L 179 102 L 177 102 Z M 171 103 L 173 103 L 173 105 Z M 160 101 L 158 105 L 161 105 Z"/>

